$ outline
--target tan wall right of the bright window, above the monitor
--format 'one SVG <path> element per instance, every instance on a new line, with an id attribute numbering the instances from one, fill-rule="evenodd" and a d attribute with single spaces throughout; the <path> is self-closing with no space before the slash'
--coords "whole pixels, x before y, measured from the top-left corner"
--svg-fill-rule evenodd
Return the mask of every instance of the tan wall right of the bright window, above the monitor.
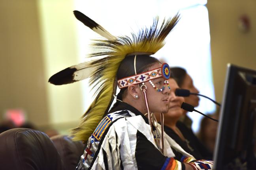
<path id="1" fill-rule="evenodd" d="M 222 100 L 227 63 L 256 70 L 256 1 L 209 0 L 211 54 L 216 100 Z M 238 20 L 246 14 L 250 31 L 238 29 Z"/>

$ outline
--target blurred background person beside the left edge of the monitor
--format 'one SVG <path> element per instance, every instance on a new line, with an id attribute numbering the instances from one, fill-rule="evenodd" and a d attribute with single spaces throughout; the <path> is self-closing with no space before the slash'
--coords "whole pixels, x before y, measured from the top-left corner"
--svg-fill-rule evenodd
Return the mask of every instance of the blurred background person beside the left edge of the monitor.
<path id="1" fill-rule="evenodd" d="M 218 110 L 214 114 L 207 114 L 208 116 L 218 119 Z M 207 149 L 213 154 L 215 148 L 216 133 L 218 129 L 218 122 L 215 122 L 207 117 L 201 120 L 200 131 L 198 133 L 198 139 L 207 147 Z"/>

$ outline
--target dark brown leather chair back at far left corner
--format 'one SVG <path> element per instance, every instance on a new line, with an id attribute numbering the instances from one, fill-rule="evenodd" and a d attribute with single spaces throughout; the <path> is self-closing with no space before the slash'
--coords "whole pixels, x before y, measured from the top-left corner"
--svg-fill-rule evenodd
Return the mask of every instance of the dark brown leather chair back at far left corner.
<path id="1" fill-rule="evenodd" d="M 64 166 L 45 133 L 15 128 L 0 134 L 0 169 L 63 170 Z"/>

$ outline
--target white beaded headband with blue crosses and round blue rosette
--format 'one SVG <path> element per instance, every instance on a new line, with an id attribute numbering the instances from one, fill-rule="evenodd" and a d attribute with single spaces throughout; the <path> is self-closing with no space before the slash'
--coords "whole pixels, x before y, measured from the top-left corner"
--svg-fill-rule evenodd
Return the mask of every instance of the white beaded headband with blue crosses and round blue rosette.
<path id="1" fill-rule="evenodd" d="M 128 87 L 129 85 L 143 83 L 156 78 L 164 78 L 168 80 L 170 78 L 170 67 L 167 63 L 163 63 L 162 67 L 155 68 L 153 70 L 149 70 L 147 72 L 143 72 L 140 74 L 136 74 L 134 76 L 129 76 L 126 78 L 122 78 L 117 80 L 119 89 Z"/>

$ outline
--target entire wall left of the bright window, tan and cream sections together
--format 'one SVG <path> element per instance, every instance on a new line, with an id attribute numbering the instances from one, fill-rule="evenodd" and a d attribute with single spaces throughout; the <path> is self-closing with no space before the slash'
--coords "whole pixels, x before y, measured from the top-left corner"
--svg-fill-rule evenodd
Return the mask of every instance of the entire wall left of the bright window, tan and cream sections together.
<path id="1" fill-rule="evenodd" d="M 40 129 L 77 126 L 81 84 L 47 82 L 79 62 L 72 11 L 72 0 L 0 1 L 0 121 L 6 109 L 21 108 Z"/>

